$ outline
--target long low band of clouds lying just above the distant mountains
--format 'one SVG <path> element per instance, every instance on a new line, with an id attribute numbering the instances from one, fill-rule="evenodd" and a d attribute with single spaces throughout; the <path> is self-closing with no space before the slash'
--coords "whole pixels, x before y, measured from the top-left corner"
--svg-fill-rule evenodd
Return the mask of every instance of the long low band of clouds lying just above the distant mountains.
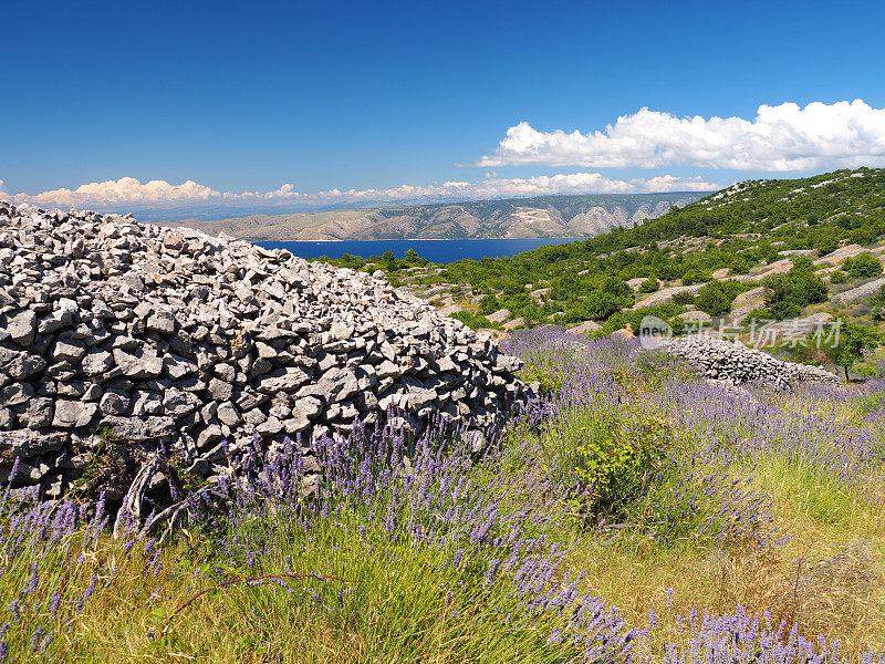
<path id="1" fill-rule="evenodd" d="M 600 173 L 573 173 L 527 178 L 500 178 L 487 174 L 478 181 L 446 181 L 441 185 L 400 185 L 389 189 L 329 189 L 315 194 L 295 190 L 285 184 L 273 191 L 218 191 L 194 180 L 171 185 L 166 180 L 142 184 L 133 177 L 90 183 L 76 189 L 53 189 L 28 195 L 0 194 L 14 203 L 32 203 L 43 207 L 76 207 L 95 209 L 164 208 L 199 205 L 281 205 L 331 206 L 373 203 L 417 203 L 469 200 L 478 198 L 519 198 L 549 194 L 637 194 L 650 191 L 710 191 L 722 185 L 700 177 L 678 178 L 671 175 L 650 179 L 618 180 Z M 2 193 L 2 180 L 0 180 Z"/>

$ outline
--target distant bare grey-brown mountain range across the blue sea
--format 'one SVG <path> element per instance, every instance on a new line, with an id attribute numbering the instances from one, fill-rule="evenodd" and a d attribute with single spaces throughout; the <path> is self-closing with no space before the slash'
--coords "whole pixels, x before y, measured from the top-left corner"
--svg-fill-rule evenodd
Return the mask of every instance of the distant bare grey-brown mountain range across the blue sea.
<path id="1" fill-rule="evenodd" d="M 211 235 L 249 240 L 406 240 L 586 238 L 631 228 L 683 207 L 705 193 L 586 194 L 459 204 L 385 206 L 284 215 L 254 214 L 220 220 L 162 220 Z"/>

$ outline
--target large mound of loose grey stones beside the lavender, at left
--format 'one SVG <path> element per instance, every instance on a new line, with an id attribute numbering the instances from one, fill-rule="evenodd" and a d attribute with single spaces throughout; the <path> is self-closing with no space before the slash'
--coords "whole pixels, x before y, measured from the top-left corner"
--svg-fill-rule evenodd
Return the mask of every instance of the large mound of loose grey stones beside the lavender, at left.
<path id="1" fill-rule="evenodd" d="M 438 416 L 481 440 L 527 397 L 518 369 L 381 273 L 0 201 L 0 481 L 13 487 L 58 497 L 91 481 L 121 500 L 158 449 L 210 478 L 254 436 L 346 435 L 357 418 L 419 434 Z"/>

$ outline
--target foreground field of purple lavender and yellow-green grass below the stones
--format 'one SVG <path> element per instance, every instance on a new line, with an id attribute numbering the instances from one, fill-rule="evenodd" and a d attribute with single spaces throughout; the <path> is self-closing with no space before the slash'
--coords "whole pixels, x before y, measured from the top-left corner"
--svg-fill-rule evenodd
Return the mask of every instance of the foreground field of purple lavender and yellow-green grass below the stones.
<path id="1" fill-rule="evenodd" d="M 178 531 L 117 539 L 102 510 L 4 498 L 0 661 L 882 661 L 885 382 L 508 343 L 541 396 L 482 454 L 360 426 L 315 461 L 257 447 Z"/>

